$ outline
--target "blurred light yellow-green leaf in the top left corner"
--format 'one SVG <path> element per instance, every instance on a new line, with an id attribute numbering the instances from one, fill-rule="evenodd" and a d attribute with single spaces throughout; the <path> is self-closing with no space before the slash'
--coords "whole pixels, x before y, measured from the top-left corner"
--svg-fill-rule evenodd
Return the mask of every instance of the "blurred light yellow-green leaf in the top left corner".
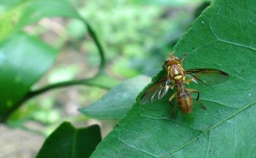
<path id="1" fill-rule="evenodd" d="M 0 40 L 41 18 L 54 16 L 81 19 L 75 8 L 66 0 L 24 1 L 0 18 Z"/>

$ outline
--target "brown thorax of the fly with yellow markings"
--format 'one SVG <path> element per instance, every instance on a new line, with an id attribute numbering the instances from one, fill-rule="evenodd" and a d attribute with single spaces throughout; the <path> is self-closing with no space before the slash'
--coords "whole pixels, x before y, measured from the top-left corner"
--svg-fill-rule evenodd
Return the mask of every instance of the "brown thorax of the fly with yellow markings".
<path id="1" fill-rule="evenodd" d="M 184 69 L 180 66 L 180 64 L 173 64 L 169 66 L 168 75 L 176 83 L 182 83 L 182 81 L 185 81 Z"/>

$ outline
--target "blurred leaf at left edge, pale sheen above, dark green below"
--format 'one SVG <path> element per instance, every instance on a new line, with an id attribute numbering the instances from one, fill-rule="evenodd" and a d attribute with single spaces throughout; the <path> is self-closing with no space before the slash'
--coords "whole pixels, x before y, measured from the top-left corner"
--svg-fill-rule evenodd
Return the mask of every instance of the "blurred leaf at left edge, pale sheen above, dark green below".
<path id="1" fill-rule="evenodd" d="M 0 120 L 53 63 L 57 51 L 18 33 L 0 42 Z"/>

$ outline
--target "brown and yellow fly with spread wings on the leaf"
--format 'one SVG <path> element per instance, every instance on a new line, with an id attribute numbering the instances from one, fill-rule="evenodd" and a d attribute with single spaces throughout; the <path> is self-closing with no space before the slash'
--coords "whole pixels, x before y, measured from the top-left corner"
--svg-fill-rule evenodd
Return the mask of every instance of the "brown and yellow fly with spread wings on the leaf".
<path id="1" fill-rule="evenodd" d="M 184 54 L 183 58 L 180 60 L 178 57 L 174 56 L 174 52 L 168 54 L 168 57 L 163 64 L 167 73 L 166 76 L 160 78 L 160 80 L 142 94 L 140 97 L 140 102 L 142 104 L 161 99 L 169 89 L 173 89 L 176 86 L 177 91 L 175 91 L 168 100 L 172 107 L 172 114 L 170 115 L 171 119 L 174 116 L 175 106 L 172 103 L 174 98 L 176 98 L 177 105 L 182 113 L 189 114 L 192 112 L 193 100 L 189 92 L 197 93 L 196 101 L 203 109 L 207 109 L 199 100 L 199 91 L 187 89 L 184 84 L 189 84 L 193 81 L 205 86 L 214 86 L 227 81 L 229 76 L 227 73 L 217 69 L 202 68 L 184 70 L 182 65 L 186 56 L 187 54 Z M 187 80 L 186 77 L 188 77 Z"/>

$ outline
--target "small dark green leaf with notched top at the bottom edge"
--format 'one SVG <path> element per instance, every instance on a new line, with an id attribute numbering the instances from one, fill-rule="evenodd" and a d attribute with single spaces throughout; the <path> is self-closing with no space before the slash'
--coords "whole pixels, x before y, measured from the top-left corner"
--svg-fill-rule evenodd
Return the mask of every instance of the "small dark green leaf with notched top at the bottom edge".
<path id="1" fill-rule="evenodd" d="M 101 141 L 98 125 L 75 128 L 63 122 L 46 139 L 36 157 L 90 157 Z"/>

